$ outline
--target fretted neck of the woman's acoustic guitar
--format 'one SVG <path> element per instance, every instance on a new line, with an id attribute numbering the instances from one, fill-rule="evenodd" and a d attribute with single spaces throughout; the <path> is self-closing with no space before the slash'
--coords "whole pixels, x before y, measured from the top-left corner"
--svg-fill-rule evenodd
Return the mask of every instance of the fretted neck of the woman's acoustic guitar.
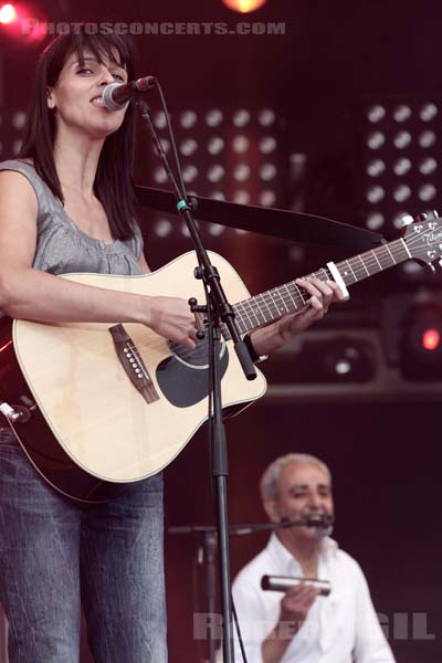
<path id="1" fill-rule="evenodd" d="M 407 244 L 400 238 L 371 251 L 359 253 L 337 263 L 335 266 L 345 285 L 348 287 L 354 283 L 364 281 L 364 278 L 393 267 L 410 257 Z M 313 272 L 304 276 L 304 278 L 327 281 L 333 280 L 333 275 L 328 267 L 323 267 L 318 272 Z M 257 327 L 277 320 L 283 315 L 299 311 L 308 298 L 309 295 L 295 281 L 291 281 L 250 299 L 239 302 L 233 308 L 241 334 L 248 334 Z"/>

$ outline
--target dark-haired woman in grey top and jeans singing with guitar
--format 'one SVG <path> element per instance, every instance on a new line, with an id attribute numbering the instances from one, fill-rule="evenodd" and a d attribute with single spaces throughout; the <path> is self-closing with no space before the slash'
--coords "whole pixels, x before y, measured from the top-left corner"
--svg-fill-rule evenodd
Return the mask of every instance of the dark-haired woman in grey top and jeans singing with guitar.
<path id="1" fill-rule="evenodd" d="M 138 323 L 194 347 L 187 301 L 60 278 L 148 272 L 134 213 L 135 112 L 110 112 L 109 83 L 134 77 L 129 43 L 84 31 L 56 38 L 38 64 L 19 158 L 0 164 L 0 311 L 42 323 Z M 299 313 L 252 333 L 280 347 L 341 298 L 302 282 Z M 34 470 L 0 420 L 0 600 L 10 663 L 77 663 L 80 607 L 96 663 L 166 663 L 161 474 L 108 503 L 82 506 Z M 38 441 L 35 441 L 38 443 Z"/>

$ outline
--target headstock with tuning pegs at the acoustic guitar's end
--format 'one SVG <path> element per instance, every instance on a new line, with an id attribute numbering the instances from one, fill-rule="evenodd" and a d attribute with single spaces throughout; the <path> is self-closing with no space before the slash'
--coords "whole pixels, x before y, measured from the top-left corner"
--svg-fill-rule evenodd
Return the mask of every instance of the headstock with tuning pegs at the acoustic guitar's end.
<path id="1" fill-rule="evenodd" d="M 411 257 L 432 266 L 432 263 L 442 256 L 442 218 L 438 212 L 419 214 L 417 221 L 407 219 L 403 240 Z"/>

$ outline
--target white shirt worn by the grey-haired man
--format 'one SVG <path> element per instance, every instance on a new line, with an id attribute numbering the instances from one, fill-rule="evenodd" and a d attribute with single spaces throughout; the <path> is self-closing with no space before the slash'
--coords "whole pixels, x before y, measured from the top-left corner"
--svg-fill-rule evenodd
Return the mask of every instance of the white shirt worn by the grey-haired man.
<path id="1" fill-rule="evenodd" d="M 275 534 L 232 588 L 249 663 L 262 663 L 261 645 L 277 623 L 283 597 L 261 589 L 264 575 L 303 576 Z M 394 663 L 359 565 L 329 537 L 322 541 L 318 578 L 332 582 L 332 592 L 316 598 L 281 663 Z M 234 651 L 235 663 L 242 663 L 238 642 Z"/>

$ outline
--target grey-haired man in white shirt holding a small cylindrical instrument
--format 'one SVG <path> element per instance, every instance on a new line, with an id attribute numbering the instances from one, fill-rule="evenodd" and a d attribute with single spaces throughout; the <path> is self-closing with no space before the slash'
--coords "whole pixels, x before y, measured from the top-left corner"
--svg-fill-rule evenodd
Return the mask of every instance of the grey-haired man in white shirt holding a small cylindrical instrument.
<path id="1" fill-rule="evenodd" d="M 364 573 L 329 538 L 333 520 L 328 467 L 306 454 L 274 461 L 261 480 L 273 523 L 312 519 L 317 526 L 276 529 L 266 548 L 233 583 L 233 598 L 249 663 L 393 663 Z M 261 589 L 264 575 L 329 580 L 332 592 L 305 583 L 284 594 Z M 238 641 L 235 663 L 242 661 Z"/>

